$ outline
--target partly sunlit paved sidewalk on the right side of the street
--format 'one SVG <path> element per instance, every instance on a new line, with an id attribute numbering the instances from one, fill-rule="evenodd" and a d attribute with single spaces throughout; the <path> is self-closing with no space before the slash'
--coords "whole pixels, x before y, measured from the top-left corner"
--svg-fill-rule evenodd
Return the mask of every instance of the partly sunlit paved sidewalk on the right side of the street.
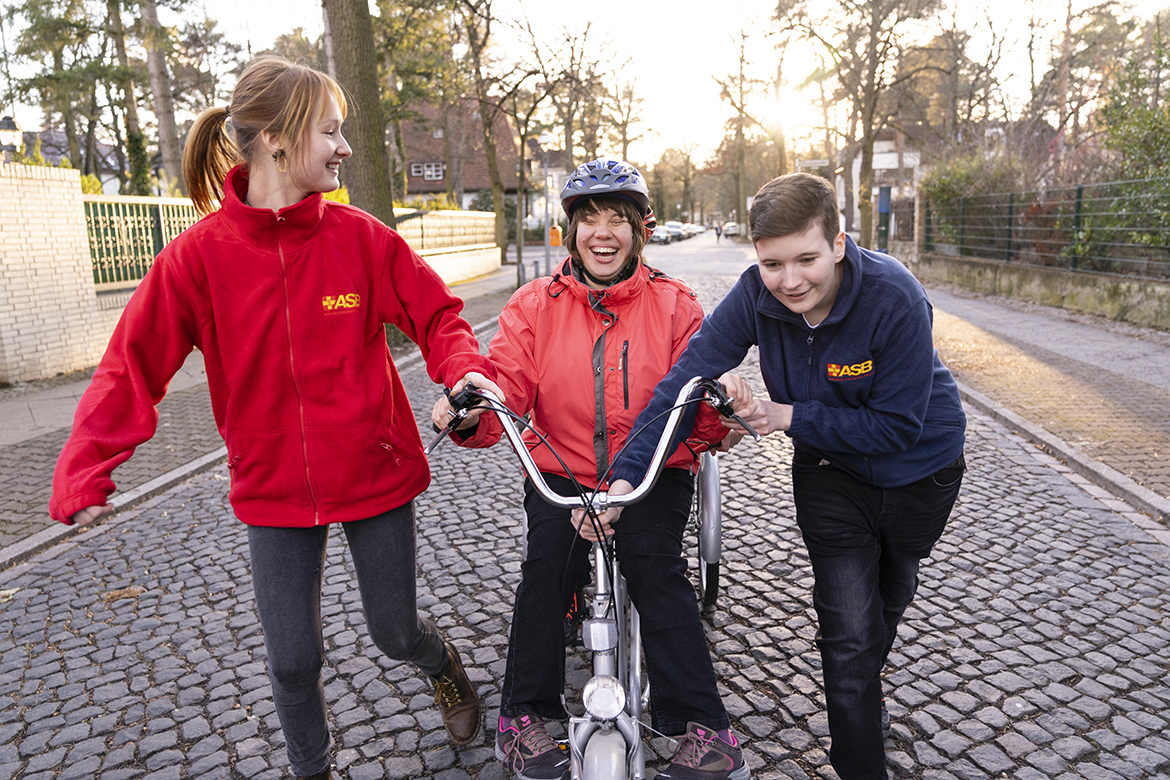
<path id="1" fill-rule="evenodd" d="M 1170 498 L 1170 333 L 958 288 L 932 291 L 955 377 L 1086 456 Z M 1038 339 L 1046 326 L 1057 339 Z M 1127 337 L 1109 353 L 1107 332 Z"/>

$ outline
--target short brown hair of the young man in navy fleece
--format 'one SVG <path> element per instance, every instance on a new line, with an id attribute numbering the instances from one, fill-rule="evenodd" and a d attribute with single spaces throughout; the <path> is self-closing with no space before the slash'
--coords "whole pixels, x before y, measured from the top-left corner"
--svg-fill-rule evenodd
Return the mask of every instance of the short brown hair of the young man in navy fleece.
<path id="1" fill-rule="evenodd" d="M 772 179 L 759 188 L 748 212 L 753 242 L 804 233 L 812 225 L 820 225 L 830 244 L 841 234 L 837 191 L 826 179 L 811 173 Z"/>

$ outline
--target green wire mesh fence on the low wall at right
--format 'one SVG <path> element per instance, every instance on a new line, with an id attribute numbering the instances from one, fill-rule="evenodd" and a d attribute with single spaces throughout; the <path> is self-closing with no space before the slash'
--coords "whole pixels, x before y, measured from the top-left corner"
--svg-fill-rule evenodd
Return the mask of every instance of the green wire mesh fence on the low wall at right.
<path id="1" fill-rule="evenodd" d="M 925 251 L 1170 278 L 1170 179 L 928 202 Z"/>

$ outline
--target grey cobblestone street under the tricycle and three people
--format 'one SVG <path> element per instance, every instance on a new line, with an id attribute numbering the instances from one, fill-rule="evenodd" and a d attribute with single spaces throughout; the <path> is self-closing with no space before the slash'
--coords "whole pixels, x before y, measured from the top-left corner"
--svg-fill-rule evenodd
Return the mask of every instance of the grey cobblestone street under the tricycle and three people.
<path id="1" fill-rule="evenodd" d="M 668 270 L 708 306 L 738 272 Z M 436 388 L 418 365 L 404 379 L 425 421 Z M 959 503 L 885 678 L 892 776 L 1170 778 L 1170 547 L 1108 491 L 968 412 Z M 704 620 L 753 778 L 832 779 L 790 453 L 770 436 L 722 457 L 724 591 Z M 420 609 L 460 648 L 493 724 L 519 577 L 518 467 L 504 447 L 443 444 L 432 468 L 417 502 Z M 0 572 L 0 780 L 288 776 L 252 601 L 222 465 Z M 369 643 L 338 533 L 322 612 L 342 776 L 503 776 L 488 737 L 452 746 L 429 683 Z M 584 655 L 569 668 L 572 706 Z"/>

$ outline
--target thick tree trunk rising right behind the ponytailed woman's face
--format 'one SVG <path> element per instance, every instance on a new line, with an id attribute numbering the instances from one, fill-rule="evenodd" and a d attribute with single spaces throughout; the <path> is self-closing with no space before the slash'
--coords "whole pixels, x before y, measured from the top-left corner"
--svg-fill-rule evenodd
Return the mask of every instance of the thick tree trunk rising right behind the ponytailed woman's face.
<path id="1" fill-rule="evenodd" d="M 386 123 L 378 89 L 373 23 L 365 0 L 324 0 L 333 41 L 337 81 L 353 96 L 345 133 L 353 158 L 347 170 L 350 202 L 394 226 L 394 198 L 386 171 Z"/>

